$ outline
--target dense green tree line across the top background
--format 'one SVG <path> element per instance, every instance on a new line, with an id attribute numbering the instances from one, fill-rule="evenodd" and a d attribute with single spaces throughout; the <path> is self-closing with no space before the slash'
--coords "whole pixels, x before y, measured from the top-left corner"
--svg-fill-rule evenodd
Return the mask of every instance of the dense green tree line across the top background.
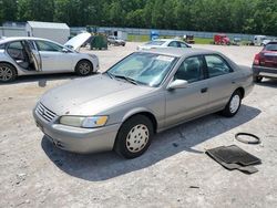
<path id="1" fill-rule="evenodd" d="M 277 0 L 0 0 L 4 21 L 277 35 Z"/>

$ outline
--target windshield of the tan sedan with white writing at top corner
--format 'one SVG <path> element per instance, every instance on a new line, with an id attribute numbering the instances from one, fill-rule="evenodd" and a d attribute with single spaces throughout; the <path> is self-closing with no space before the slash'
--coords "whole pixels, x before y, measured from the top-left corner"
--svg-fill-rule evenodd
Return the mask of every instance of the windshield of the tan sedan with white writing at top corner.
<path id="1" fill-rule="evenodd" d="M 168 55 L 133 53 L 112 66 L 107 74 L 155 87 L 162 83 L 175 62 L 176 58 Z"/>

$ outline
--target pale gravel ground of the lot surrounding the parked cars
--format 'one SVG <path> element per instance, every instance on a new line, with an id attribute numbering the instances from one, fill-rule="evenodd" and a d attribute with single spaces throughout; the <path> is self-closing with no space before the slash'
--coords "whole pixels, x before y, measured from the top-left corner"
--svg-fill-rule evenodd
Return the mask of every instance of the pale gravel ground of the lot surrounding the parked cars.
<path id="1" fill-rule="evenodd" d="M 94 51 L 104 71 L 136 49 Z M 250 65 L 260 48 L 195 45 Z M 0 207 L 277 207 L 277 81 L 265 80 L 234 118 L 208 115 L 155 136 L 132 160 L 114 153 L 76 155 L 52 146 L 35 127 L 32 107 L 72 74 L 20 77 L 0 85 Z M 260 145 L 234 139 L 260 136 Z M 263 160 L 259 171 L 226 170 L 204 154 L 238 145 Z"/>

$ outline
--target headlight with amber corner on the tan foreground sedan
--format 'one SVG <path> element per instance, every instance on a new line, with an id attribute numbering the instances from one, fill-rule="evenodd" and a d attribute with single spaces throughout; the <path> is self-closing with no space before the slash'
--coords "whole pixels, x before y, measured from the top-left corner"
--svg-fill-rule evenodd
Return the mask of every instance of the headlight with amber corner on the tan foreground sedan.
<path id="1" fill-rule="evenodd" d="M 60 118 L 60 124 L 83 128 L 95 128 L 104 126 L 106 124 L 106 121 L 107 116 L 84 117 L 65 115 Z"/>

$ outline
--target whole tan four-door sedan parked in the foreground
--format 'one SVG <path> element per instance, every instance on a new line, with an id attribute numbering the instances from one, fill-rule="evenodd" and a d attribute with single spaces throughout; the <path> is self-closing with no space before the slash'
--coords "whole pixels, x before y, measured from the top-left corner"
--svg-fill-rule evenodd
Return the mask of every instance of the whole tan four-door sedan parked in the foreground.
<path id="1" fill-rule="evenodd" d="M 155 133 L 214 112 L 234 116 L 252 89 L 252 70 L 220 53 L 158 49 L 50 90 L 33 116 L 59 148 L 134 158 Z"/>

